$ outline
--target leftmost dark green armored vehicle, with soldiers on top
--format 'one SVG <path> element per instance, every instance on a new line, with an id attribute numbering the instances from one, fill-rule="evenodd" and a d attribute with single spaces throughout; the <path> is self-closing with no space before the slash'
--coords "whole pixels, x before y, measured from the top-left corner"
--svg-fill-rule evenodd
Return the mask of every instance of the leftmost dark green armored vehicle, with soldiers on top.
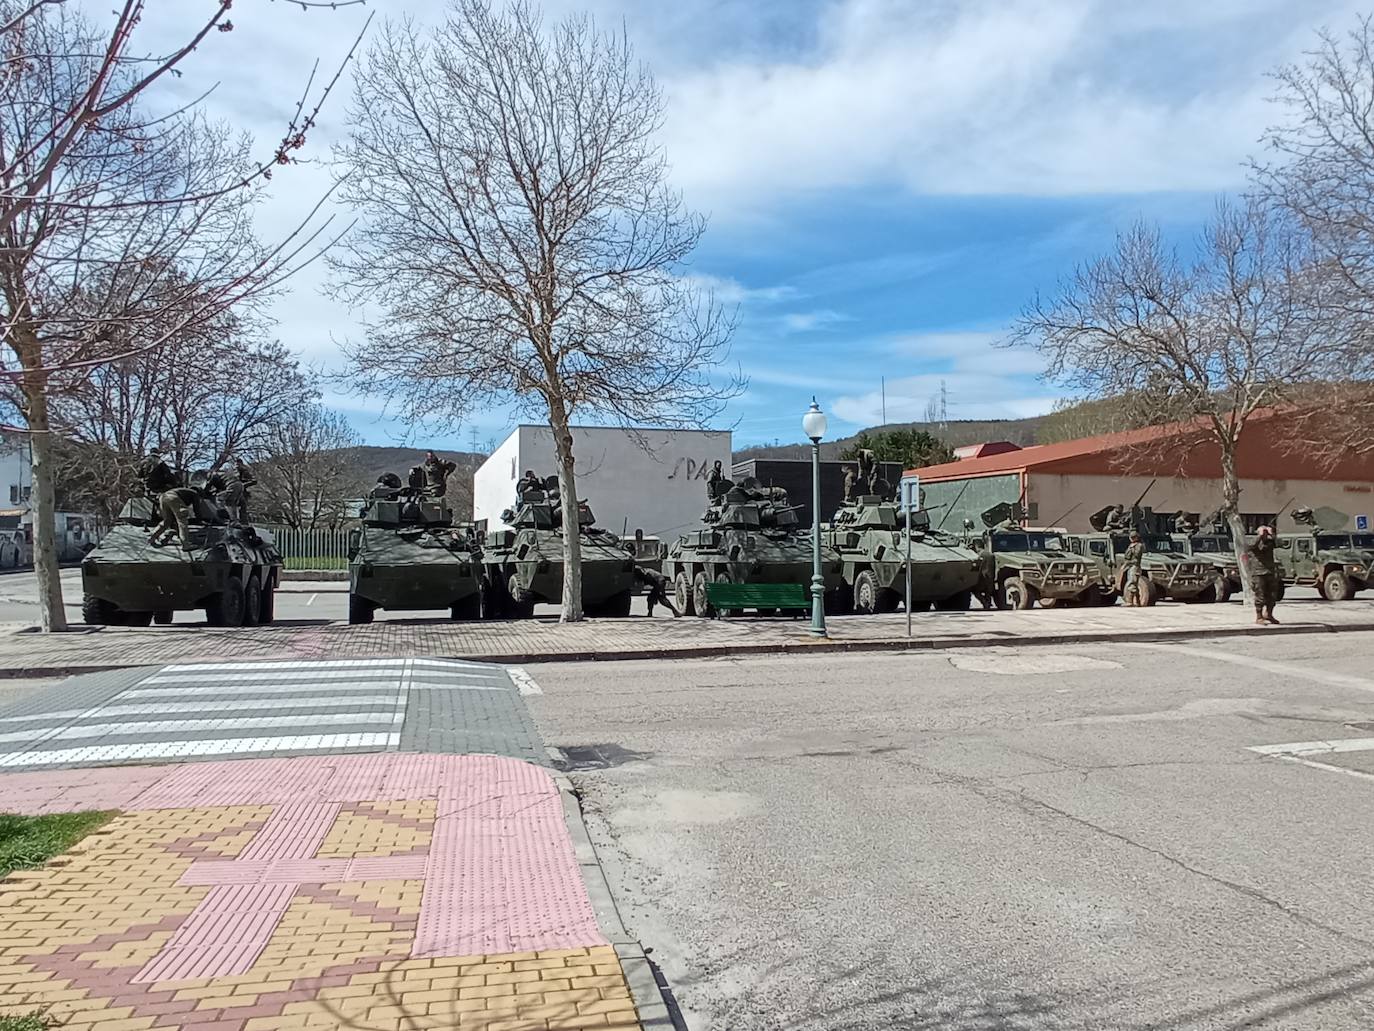
<path id="1" fill-rule="evenodd" d="M 239 525 L 207 496 L 192 506 L 190 550 L 150 543 L 151 498 L 133 498 L 81 562 L 81 619 L 92 625 L 166 624 L 174 612 L 205 609 L 212 627 L 267 625 L 282 554 L 265 529 Z"/>

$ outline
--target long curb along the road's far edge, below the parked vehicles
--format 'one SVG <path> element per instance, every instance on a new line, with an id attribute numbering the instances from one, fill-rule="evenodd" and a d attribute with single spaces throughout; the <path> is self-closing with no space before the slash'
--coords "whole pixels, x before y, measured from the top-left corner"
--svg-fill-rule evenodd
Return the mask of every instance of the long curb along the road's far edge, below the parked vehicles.
<path id="1" fill-rule="evenodd" d="M 1200 641 L 1206 638 L 1235 636 L 1283 636 L 1290 634 L 1362 634 L 1374 631 L 1370 623 L 1294 623 L 1279 627 L 1205 627 L 1200 630 L 1147 630 L 1147 631 L 1090 631 L 1085 634 L 1043 634 L 1036 636 L 976 636 L 976 638 L 881 638 L 875 641 L 779 641 L 758 645 L 702 645 L 699 647 L 625 647 L 607 652 L 510 652 L 507 654 L 485 654 L 455 652 L 452 654 L 412 656 L 420 658 L 452 658 L 466 663 L 492 663 L 493 665 L 537 665 L 540 663 L 628 663 L 644 658 L 720 658 L 725 656 L 815 656 L 829 657 L 859 652 L 949 652 L 971 647 L 1025 647 L 1039 645 L 1096 645 L 1103 642 L 1131 641 Z M 293 661 L 304 656 L 267 657 L 246 656 L 242 661 Z M 394 656 L 348 656 L 349 658 L 394 658 Z M 162 660 L 177 661 L 177 660 Z M 187 660 L 180 660 L 187 661 Z M 190 661 L 210 661 L 190 660 Z M 223 658 L 221 663 L 236 661 Z M 82 674 L 103 674 L 110 669 L 129 669 L 136 665 L 159 665 L 158 660 L 70 664 L 70 665 L 29 665 L 0 667 L 0 680 L 21 678 L 49 679 L 55 676 L 78 676 Z"/>

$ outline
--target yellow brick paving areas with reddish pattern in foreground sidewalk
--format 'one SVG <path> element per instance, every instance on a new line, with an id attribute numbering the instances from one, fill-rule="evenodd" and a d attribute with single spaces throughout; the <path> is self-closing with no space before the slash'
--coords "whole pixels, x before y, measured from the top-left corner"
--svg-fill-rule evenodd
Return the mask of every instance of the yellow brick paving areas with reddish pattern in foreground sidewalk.
<path id="1" fill-rule="evenodd" d="M 238 856 L 269 815 L 126 812 L 0 881 L 0 1015 L 45 1008 L 63 1031 L 639 1028 L 609 946 L 409 958 L 418 880 L 302 884 L 246 973 L 133 983 L 210 891 L 180 885 L 187 867 Z M 317 858 L 416 855 L 433 819 L 433 801 L 346 807 Z"/>

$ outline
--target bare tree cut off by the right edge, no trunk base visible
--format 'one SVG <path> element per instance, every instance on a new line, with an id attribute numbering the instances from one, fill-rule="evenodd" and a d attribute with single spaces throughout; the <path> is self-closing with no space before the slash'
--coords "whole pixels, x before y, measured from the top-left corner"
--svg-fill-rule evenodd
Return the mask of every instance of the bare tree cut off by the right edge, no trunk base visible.
<path id="1" fill-rule="evenodd" d="M 1374 18 L 1344 34 L 1318 33 L 1305 60 L 1274 74 L 1285 118 L 1253 162 L 1257 192 L 1311 238 L 1312 276 L 1334 338 L 1348 342 L 1342 374 L 1314 384 L 1292 441 L 1334 462 L 1374 452 Z"/>

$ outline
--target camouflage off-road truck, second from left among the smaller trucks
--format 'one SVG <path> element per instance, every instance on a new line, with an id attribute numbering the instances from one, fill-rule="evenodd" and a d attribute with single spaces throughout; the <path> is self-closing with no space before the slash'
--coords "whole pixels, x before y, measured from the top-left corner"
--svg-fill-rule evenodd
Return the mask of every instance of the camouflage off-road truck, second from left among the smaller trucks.
<path id="1" fill-rule="evenodd" d="M 1121 525 L 1109 524 L 1109 513 L 1103 509 L 1090 517 L 1094 533 L 1065 533 L 1063 540 L 1074 555 L 1096 565 L 1106 584 L 1103 602 L 1112 605 L 1125 597 L 1125 566 L 1121 555 L 1131 546 L 1131 532 Z M 1216 569 L 1206 559 L 1190 558 L 1183 554 L 1168 533 L 1140 533 L 1145 544 L 1145 558 L 1140 561 L 1146 591 L 1139 595 L 1140 605 L 1154 605 L 1161 599 L 1183 602 L 1216 601 Z"/>

